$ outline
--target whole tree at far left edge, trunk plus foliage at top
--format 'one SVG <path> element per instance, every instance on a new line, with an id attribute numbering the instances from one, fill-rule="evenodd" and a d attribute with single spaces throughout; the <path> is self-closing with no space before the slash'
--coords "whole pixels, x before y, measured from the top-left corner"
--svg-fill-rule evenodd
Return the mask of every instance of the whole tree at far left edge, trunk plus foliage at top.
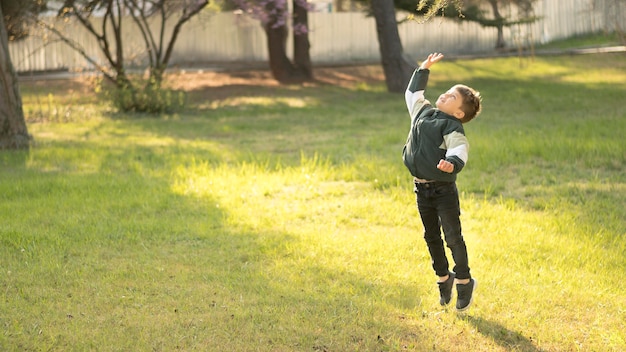
<path id="1" fill-rule="evenodd" d="M 24 17 L 45 7 L 42 1 L 0 1 L 0 149 L 28 149 L 28 134 L 17 72 L 9 53 L 9 39 L 28 35 Z"/>

